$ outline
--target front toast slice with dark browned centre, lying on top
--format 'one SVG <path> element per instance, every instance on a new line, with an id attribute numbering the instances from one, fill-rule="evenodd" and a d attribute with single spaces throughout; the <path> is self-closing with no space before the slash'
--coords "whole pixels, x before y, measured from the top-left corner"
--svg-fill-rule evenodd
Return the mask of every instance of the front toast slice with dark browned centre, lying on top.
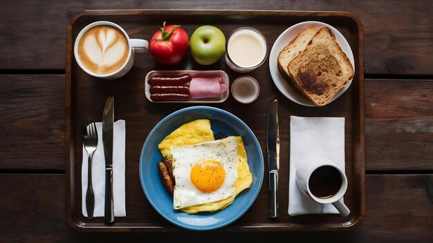
<path id="1" fill-rule="evenodd" d="M 353 78 L 353 66 L 331 29 L 320 28 L 287 66 L 297 88 L 315 106 L 324 106 Z"/>

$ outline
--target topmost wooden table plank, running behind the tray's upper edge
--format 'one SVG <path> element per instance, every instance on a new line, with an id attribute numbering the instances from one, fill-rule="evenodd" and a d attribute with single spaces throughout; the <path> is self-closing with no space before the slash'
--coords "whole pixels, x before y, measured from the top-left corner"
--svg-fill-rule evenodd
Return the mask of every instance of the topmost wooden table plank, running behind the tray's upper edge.
<path id="1" fill-rule="evenodd" d="M 366 74 L 433 75 L 429 1 L 7 1 L 0 2 L 0 69 L 63 70 L 66 23 L 80 10 L 317 10 L 356 14 L 365 29 Z M 19 41 L 17 41 L 19 40 Z M 19 51 L 17 51 L 19 50 Z M 416 55 L 415 55 L 416 54 Z"/>

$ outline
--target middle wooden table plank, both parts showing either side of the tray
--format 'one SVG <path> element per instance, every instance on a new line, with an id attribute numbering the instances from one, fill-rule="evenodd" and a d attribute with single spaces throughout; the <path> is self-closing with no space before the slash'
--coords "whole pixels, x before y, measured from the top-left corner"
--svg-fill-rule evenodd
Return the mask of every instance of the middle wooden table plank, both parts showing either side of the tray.
<path id="1" fill-rule="evenodd" d="M 433 160 L 432 84 L 365 80 L 367 172 L 433 170 L 426 163 Z M 0 169 L 64 171 L 64 85 L 64 75 L 0 75 Z"/>

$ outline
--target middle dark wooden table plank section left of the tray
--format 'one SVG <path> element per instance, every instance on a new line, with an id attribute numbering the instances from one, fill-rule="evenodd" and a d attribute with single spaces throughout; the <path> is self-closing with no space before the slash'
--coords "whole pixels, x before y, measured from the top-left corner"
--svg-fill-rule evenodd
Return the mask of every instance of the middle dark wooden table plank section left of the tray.
<path id="1" fill-rule="evenodd" d="M 0 75 L 0 169 L 64 170 L 64 75 Z"/>

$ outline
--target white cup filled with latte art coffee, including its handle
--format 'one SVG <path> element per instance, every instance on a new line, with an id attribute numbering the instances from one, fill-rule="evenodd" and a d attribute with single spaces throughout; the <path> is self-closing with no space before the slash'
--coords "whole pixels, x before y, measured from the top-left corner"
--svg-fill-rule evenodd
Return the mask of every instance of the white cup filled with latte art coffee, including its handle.
<path id="1" fill-rule="evenodd" d="M 74 44 L 75 61 L 84 72 L 102 79 L 116 79 L 132 68 L 134 52 L 146 52 L 144 39 L 129 39 L 116 23 L 97 21 L 78 33 Z"/>

